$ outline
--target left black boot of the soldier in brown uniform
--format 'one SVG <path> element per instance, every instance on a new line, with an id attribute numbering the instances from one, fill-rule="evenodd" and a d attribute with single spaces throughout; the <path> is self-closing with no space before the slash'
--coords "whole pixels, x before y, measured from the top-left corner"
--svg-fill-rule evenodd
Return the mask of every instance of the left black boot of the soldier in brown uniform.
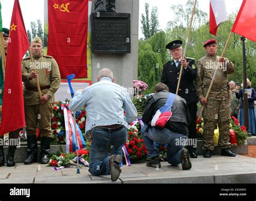
<path id="1" fill-rule="evenodd" d="M 26 136 L 28 140 L 28 153 L 29 157 L 26 158 L 24 164 L 32 164 L 37 162 L 37 138 L 36 135 Z"/>

